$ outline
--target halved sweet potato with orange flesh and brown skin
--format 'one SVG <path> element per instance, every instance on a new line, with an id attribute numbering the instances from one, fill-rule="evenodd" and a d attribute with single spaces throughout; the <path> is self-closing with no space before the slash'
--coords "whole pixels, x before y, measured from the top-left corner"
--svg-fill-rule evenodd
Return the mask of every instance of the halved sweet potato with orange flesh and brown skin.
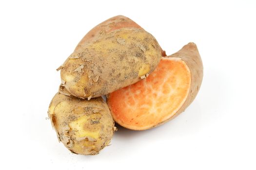
<path id="1" fill-rule="evenodd" d="M 149 76 L 108 95 L 113 119 L 132 130 L 146 130 L 173 119 L 195 99 L 203 77 L 194 43 L 162 57 Z"/>

